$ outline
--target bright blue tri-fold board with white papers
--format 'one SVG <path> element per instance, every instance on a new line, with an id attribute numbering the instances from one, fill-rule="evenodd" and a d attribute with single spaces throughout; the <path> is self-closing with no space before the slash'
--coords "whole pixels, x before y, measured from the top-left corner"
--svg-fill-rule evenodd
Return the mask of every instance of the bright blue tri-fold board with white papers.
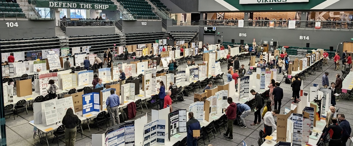
<path id="1" fill-rule="evenodd" d="M 82 95 L 82 114 L 85 115 L 92 111 L 99 112 L 99 93 L 97 92 Z"/>

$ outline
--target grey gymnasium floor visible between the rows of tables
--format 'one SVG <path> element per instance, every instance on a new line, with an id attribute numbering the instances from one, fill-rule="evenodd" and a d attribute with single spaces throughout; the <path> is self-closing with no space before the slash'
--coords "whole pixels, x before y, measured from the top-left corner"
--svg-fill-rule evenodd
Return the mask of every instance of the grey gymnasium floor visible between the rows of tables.
<path id="1" fill-rule="evenodd" d="M 290 56 L 291 60 L 294 60 L 296 57 L 294 56 Z M 257 58 L 257 60 L 259 60 Z M 114 61 L 118 61 L 118 60 L 114 60 Z M 127 62 L 130 63 L 130 61 L 133 61 L 133 59 L 129 59 L 127 61 L 124 60 L 119 60 L 122 62 Z M 196 61 L 197 63 L 201 63 L 202 61 Z M 244 60 L 240 60 L 240 64 L 244 64 L 246 71 L 248 70 L 248 63 L 249 63 L 249 59 L 244 59 Z M 183 66 L 185 66 L 186 63 L 184 63 Z M 103 67 L 106 67 L 106 65 L 104 65 Z M 306 80 L 304 80 L 304 91 L 305 92 L 309 92 L 310 87 L 312 86 L 313 83 L 317 83 L 320 84 L 321 86 L 321 78 L 322 75 L 325 71 L 329 72 L 329 83 L 331 82 L 335 82 L 336 78 L 335 75 L 337 73 L 341 73 L 340 71 L 334 71 L 334 67 L 335 65 L 333 64 L 333 60 L 329 60 L 329 67 L 323 67 L 323 72 L 317 72 L 316 75 L 310 75 L 310 77 L 306 77 Z M 224 72 L 225 74 L 223 75 L 224 80 L 227 80 L 227 65 L 222 65 L 222 72 Z M 277 81 L 282 80 L 283 75 L 278 75 L 277 74 Z M 142 86 L 142 84 L 140 84 L 140 86 Z M 169 86 L 169 84 L 168 84 Z M 284 90 L 284 98 L 282 99 L 282 107 L 281 107 L 281 113 L 284 112 L 283 110 L 285 109 L 285 107 L 290 107 L 291 102 L 293 100 L 291 100 L 290 98 L 292 97 L 292 88 L 290 86 L 290 84 L 285 84 L 282 83 L 281 84 L 281 88 Z M 202 91 L 202 90 L 201 90 Z M 192 94 L 192 93 L 191 93 Z M 189 105 L 191 103 L 193 103 L 193 94 L 190 95 L 189 97 L 184 97 L 184 102 L 178 102 L 178 104 L 173 103 L 173 110 L 175 109 L 188 109 Z M 352 107 L 353 103 L 352 101 L 348 101 L 346 99 L 341 99 L 340 101 L 336 101 L 336 107 L 337 109 L 340 109 L 339 112 L 345 114 L 346 116 L 346 120 L 351 124 L 351 127 L 353 127 L 353 116 L 352 113 L 349 112 L 349 107 Z M 151 121 L 151 109 L 143 109 L 144 114 L 147 112 L 148 114 L 148 122 Z M 137 119 L 141 116 L 143 116 L 144 114 L 141 114 L 141 112 L 137 111 L 136 114 L 136 118 Z M 15 116 L 16 117 L 16 116 Z M 132 120 L 134 120 L 132 119 Z M 259 137 L 258 134 L 258 130 L 263 129 L 263 121 L 261 125 L 256 125 L 256 126 L 250 126 L 250 123 L 252 123 L 253 119 L 254 119 L 254 114 L 253 112 L 251 112 L 251 114 L 249 114 L 249 116 L 247 116 L 246 118 L 246 125 L 247 128 L 240 128 L 239 126 L 235 126 L 233 125 L 233 138 L 234 140 L 226 140 L 225 137 L 223 136 L 223 133 L 225 133 L 225 131 L 222 130 L 222 134 L 217 133 L 216 138 L 211 138 L 210 137 L 210 142 L 208 142 L 208 140 L 205 140 L 206 144 L 213 144 L 214 146 L 240 146 L 240 142 L 241 140 L 244 140 L 246 142 L 246 144 L 248 146 L 250 145 L 254 145 L 257 146 L 257 138 Z M 47 145 L 46 142 L 43 142 L 43 144 L 41 144 L 39 142 L 39 138 L 38 136 L 36 136 L 35 138 L 33 138 L 33 127 L 28 124 L 29 121 L 33 120 L 33 111 L 29 111 L 28 115 L 26 114 L 20 114 L 19 117 L 16 117 L 16 120 L 13 120 L 13 118 L 6 120 L 6 139 L 7 139 L 7 145 L 9 146 L 44 146 Z M 91 127 L 91 132 L 89 132 L 88 128 L 86 126 L 83 126 L 83 138 L 81 138 L 81 135 L 77 135 L 76 136 L 76 143 L 75 145 L 77 146 L 91 146 L 91 142 L 92 142 L 92 136 L 91 134 L 102 134 L 105 132 L 106 127 L 102 127 L 100 128 L 100 130 L 98 131 L 97 128 L 94 128 L 93 126 Z M 52 139 L 53 139 L 53 135 L 48 136 L 48 140 L 49 140 L 49 145 L 54 146 L 57 145 L 56 144 L 56 140 L 54 141 L 54 143 L 52 144 Z M 348 141 L 349 142 L 349 141 Z M 347 144 L 348 144 L 347 142 Z M 64 146 L 65 143 L 59 143 L 60 146 Z M 203 145 L 200 144 L 199 145 Z"/>

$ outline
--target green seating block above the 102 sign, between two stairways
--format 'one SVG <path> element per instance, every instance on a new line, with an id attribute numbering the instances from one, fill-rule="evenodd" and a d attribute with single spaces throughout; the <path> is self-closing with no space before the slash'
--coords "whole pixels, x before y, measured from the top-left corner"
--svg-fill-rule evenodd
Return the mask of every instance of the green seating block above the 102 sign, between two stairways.
<path id="1" fill-rule="evenodd" d="M 152 11 L 152 7 L 145 0 L 117 0 L 124 8 L 127 8 L 132 13 L 136 13 L 136 16 L 156 16 Z"/>

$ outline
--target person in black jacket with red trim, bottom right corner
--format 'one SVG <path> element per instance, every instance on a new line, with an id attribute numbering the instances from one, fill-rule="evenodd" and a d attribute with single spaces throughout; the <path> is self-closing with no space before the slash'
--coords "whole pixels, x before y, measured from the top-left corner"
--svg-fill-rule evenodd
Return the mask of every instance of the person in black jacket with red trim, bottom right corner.
<path id="1" fill-rule="evenodd" d="M 331 118 L 332 125 L 328 126 L 326 129 L 323 138 L 326 138 L 327 134 L 330 134 L 330 141 L 328 146 L 340 146 L 341 145 L 341 137 L 343 133 L 342 127 L 338 126 L 337 118 Z M 321 139 L 324 140 L 324 139 Z"/>

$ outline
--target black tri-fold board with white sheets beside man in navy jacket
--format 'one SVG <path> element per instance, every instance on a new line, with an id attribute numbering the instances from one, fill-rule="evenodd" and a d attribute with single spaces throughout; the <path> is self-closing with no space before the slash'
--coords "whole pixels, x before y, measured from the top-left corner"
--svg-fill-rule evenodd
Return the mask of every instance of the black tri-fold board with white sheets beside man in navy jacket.
<path id="1" fill-rule="evenodd" d="M 179 132 L 186 132 L 186 109 L 175 110 L 168 114 L 168 139 Z"/>

